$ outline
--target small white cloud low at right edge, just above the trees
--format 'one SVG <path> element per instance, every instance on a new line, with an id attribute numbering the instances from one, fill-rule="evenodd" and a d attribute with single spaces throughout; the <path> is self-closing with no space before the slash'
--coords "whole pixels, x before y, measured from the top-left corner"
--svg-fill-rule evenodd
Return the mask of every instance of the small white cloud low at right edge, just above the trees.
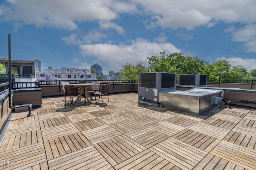
<path id="1" fill-rule="evenodd" d="M 231 64 L 231 66 L 243 66 L 244 68 L 247 69 L 247 71 L 250 71 L 254 68 L 256 68 L 256 59 L 242 59 L 240 57 L 218 57 L 216 61 L 218 60 L 226 60 L 228 63 Z"/>

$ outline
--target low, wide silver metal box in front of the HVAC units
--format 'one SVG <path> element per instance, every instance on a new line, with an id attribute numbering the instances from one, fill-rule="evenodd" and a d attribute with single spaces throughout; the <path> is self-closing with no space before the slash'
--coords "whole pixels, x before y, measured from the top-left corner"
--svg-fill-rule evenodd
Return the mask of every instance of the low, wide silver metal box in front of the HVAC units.
<path id="1" fill-rule="evenodd" d="M 223 90 L 193 88 L 186 91 L 160 92 L 164 107 L 200 115 L 221 104 Z"/>

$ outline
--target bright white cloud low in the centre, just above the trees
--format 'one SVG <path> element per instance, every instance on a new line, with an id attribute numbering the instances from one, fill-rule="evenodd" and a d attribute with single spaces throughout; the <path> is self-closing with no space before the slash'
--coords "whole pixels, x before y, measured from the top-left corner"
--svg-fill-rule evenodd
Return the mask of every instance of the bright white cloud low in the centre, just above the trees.
<path id="1" fill-rule="evenodd" d="M 145 39 L 136 39 L 131 45 L 101 43 L 80 45 L 80 50 L 84 57 L 96 57 L 98 61 L 108 63 L 109 68 L 114 71 L 120 70 L 126 63 L 136 64 L 152 55 L 159 55 L 162 51 L 166 51 L 167 54 L 181 51 L 170 43 L 152 43 Z"/>

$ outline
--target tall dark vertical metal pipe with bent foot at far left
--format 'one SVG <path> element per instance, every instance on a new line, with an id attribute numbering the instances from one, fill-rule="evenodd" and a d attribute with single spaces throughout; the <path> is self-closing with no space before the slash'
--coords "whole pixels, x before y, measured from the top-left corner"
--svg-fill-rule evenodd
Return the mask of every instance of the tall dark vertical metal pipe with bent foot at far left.
<path id="1" fill-rule="evenodd" d="M 28 107 L 28 115 L 33 116 L 31 113 L 31 106 L 30 104 L 24 104 L 19 106 L 12 106 L 12 60 L 11 60 L 11 35 L 8 34 L 8 78 L 9 78 L 9 107 L 11 109 L 20 108 L 20 107 Z"/>

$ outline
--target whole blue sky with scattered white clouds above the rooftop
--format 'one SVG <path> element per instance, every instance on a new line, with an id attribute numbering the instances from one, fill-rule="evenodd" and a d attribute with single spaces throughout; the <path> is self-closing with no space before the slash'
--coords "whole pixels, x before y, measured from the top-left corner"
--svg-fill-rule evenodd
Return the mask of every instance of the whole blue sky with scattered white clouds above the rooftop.
<path id="1" fill-rule="evenodd" d="M 256 68 L 256 0 L 1 0 L 0 58 L 117 72 L 182 53 Z"/>

